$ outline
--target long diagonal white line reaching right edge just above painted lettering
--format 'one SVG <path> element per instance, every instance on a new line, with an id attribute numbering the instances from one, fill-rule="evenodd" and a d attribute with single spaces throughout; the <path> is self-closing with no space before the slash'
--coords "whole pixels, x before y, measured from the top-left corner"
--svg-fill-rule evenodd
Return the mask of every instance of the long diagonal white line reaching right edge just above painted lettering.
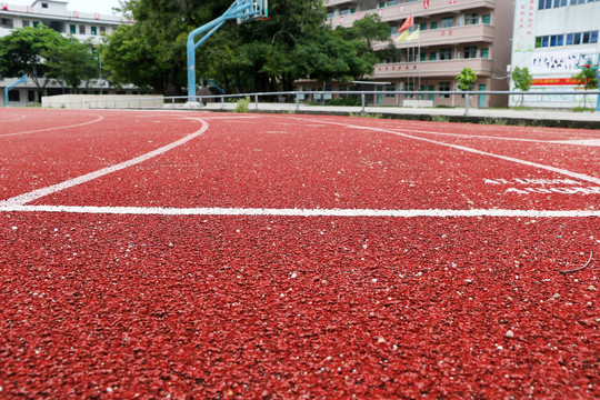
<path id="1" fill-rule="evenodd" d="M 398 131 L 390 130 L 390 129 L 373 128 L 373 127 L 361 127 L 361 126 L 354 126 L 354 124 L 342 123 L 342 122 L 317 121 L 317 120 L 311 120 L 311 119 L 308 119 L 308 118 L 297 118 L 297 119 L 302 120 L 302 121 L 313 122 L 313 123 L 314 122 L 321 122 L 321 123 L 329 123 L 329 124 L 346 127 L 346 128 L 350 128 L 350 129 L 361 129 L 361 130 L 370 130 L 370 131 L 376 131 L 376 132 L 391 133 L 391 134 L 396 134 L 396 136 L 399 136 L 399 137 L 402 137 L 402 138 L 420 140 L 420 141 L 424 141 L 424 142 L 428 142 L 428 143 L 434 143 L 434 144 L 439 144 L 439 146 L 444 146 L 444 147 L 449 147 L 449 148 L 461 150 L 461 151 L 471 152 L 471 153 L 479 154 L 479 156 L 493 157 L 493 158 L 497 158 L 497 159 L 500 159 L 500 160 L 516 162 L 516 163 L 528 166 L 528 167 L 539 168 L 539 169 L 543 169 L 543 170 L 547 170 L 547 171 L 560 173 L 560 174 L 563 174 L 563 176 L 567 176 L 567 177 L 571 177 L 571 178 L 574 178 L 574 179 L 579 179 L 579 180 L 583 180 L 583 181 L 600 184 L 600 178 L 590 177 L 590 176 L 587 176 L 584 173 L 572 172 L 572 171 L 566 170 L 566 169 L 562 169 L 562 168 L 544 166 L 544 164 L 540 164 L 540 163 L 537 163 L 537 162 L 521 160 L 521 159 L 518 159 L 518 158 L 514 158 L 514 157 L 494 154 L 494 153 L 490 153 L 490 152 L 487 152 L 487 151 L 481 151 L 481 150 L 477 150 L 477 149 L 473 149 L 473 148 L 469 148 L 469 147 L 466 147 L 466 146 L 451 144 L 451 143 L 446 143 L 446 142 L 441 142 L 441 141 L 433 140 L 433 139 L 416 137 L 416 136 L 412 136 L 412 134 L 402 133 L 402 132 L 398 132 Z M 434 132 L 431 132 L 431 133 L 434 133 Z"/>

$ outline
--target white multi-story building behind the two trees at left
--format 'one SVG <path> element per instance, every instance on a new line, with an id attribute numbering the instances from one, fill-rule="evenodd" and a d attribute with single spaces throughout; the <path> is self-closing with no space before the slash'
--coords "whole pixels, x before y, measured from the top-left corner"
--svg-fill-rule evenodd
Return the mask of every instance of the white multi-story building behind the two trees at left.
<path id="1" fill-rule="evenodd" d="M 127 23 L 122 17 L 107 16 L 100 13 L 86 13 L 69 10 L 67 1 L 59 0 L 36 0 L 31 6 L 13 6 L 0 3 L 0 37 L 9 34 L 12 30 L 23 27 L 47 26 L 64 36 L 72 34 L 83 41 L 92 39 L 93 43 L 100 43 L 102 34 L 111 34 L 119 26 Z M 98 63 L 99 76 L 101 72 L 101 60 Z M 0 80 L 0 104 L 6 103 L 4 88 L 13 84 L 18 80 L 9 78 Z M 134 90 L 128 88 L 127 92 Z M 47 87 L 49 96 L 69 93 L 70 89 L 64 88 L 62 82 L 50 81 Z M 117 89 L 110 87 L 107 80 L 93 80 L 88 82 L 82 93 L 100 94 L 116 93 Z M 121 89 L 122 92 L 122 89 Z M 9 100 L 14 106 L 26 106 L 39 102 L 40 93 L 31 80 L 18 84 L 9 92 Z"/>

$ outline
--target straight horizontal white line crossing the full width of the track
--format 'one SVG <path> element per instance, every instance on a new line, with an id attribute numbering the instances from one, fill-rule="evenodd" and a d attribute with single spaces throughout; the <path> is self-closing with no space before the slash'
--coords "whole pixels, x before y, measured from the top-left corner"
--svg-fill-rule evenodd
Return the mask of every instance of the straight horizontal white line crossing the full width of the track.
<path id="1" fill-rule="evenodd" d="M 121 216 L 226 216 L 226 217 L 371 217 L 371 218 L 590 218 L 600 210 L 369 210 L 369 209 L 243 209 L 243 208 L 144 208 L 91 206 L 0 206 L 0 212 L 64 212 Z"/>

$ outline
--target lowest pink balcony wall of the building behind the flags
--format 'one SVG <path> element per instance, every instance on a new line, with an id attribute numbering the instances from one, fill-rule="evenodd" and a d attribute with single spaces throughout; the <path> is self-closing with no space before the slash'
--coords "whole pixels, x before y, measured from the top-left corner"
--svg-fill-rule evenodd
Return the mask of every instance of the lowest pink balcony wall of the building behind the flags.
<path id="1" fill-rule="evenodd" d="M 456 77 L 464 67 L 470 67 L 478 77 L 490 77 L 493 61 L 488 59 L 458 59 L 440 61 L 416 61 L 382 63 L 374 67 L 374 79 L 443 78 Z"/>

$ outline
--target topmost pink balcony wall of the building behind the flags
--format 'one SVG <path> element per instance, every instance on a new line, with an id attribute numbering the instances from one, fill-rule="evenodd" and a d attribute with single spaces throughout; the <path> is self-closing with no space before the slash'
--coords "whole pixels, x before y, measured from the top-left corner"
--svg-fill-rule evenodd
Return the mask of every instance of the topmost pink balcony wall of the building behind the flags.
<path id="1" fill-rule="evenodd" d="M 330 1 L 327 7 L 332 7 L 334 4 L 342 3 L 356 3 L 354 1 Z M 391 21 L 401 21 L 408 18 L 410 14 L 413 14 L 416 19 L 418 18 L 429 18 L 434 14 L 441 13 L 456 13 L 459 14 L 466 10 L 481 9 L 487 8 L 493 10 L 496 8 L 494 0 L 460 0 L 453 4 L 450 4 L 449 0 L 429 0 L 429 7 L 426 8 L 424 1 L 416 1 L 410 3 L 401 3 L 391 7 L 371 9 L 371 10 L 361 10 L 354 13 L 346 16 L 337 16 L 330 19 L 331 26 L 333 28 L 338 26 L 351 27 L 356 20 L 362 19 L 366 14 L 377 13 L 381 17 L 383 22 Z"/>

